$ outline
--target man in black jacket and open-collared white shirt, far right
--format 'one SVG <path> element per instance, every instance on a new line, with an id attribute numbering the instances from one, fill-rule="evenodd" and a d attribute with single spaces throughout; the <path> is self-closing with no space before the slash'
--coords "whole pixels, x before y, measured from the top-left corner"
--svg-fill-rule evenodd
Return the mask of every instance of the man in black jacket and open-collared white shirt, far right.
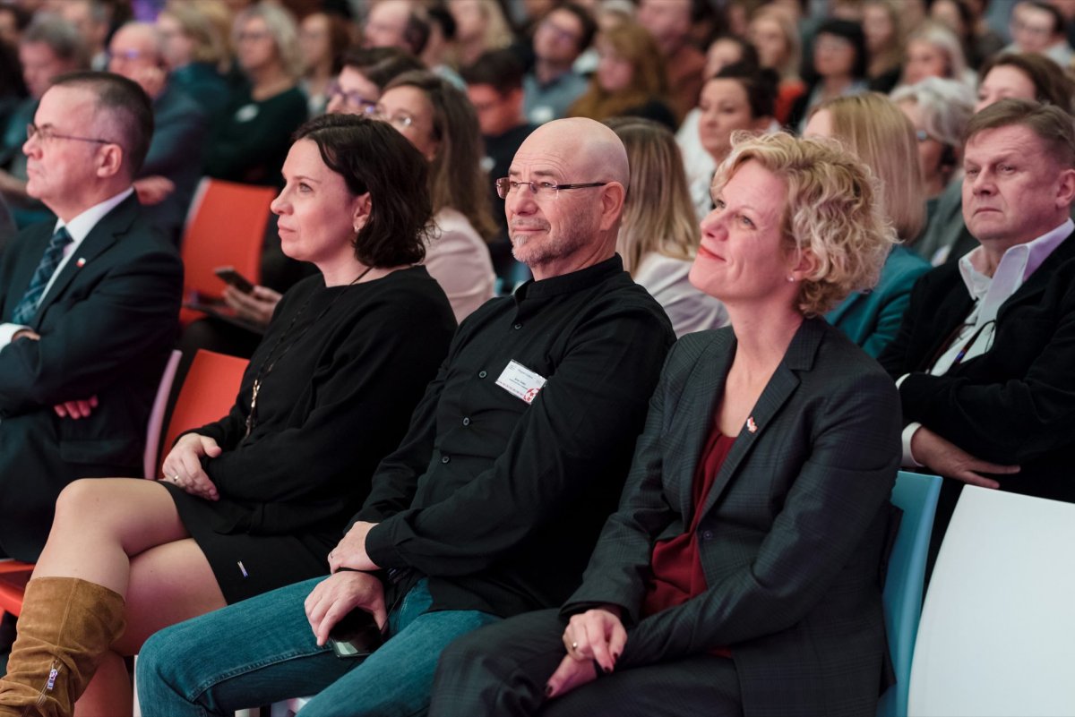
<path id="1" fill-rule="evenodd" d="M 963 218 L 979 246 L 918 280 L 880 362 L 898 380 L 904 465 L 945 481 L 1075 500 L 1075 130 L 1003 100 L 971 120 Z"/>

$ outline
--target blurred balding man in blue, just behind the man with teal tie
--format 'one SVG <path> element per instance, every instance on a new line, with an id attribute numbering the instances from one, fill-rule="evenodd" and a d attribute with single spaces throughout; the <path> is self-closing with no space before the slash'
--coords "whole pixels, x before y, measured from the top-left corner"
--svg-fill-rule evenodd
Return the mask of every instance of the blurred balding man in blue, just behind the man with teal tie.
<path id="1" fill-rule="evenodd" d="M 116 31 L 109 71 L 137 82 L 153 101 L 153 140 L 134 191 L 143 216 L 178 245 L 201 179 L 209 117 L 169 82 L 161 35 L 149 23 L 128 23 Z"/>

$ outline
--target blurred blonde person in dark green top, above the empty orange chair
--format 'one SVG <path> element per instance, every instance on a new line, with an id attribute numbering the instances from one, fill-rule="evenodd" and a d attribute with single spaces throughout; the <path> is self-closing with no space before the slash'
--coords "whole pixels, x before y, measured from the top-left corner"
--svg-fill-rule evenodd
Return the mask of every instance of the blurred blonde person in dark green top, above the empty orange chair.
<path id="1" fill-rule="evenodd" d="M 306 119 L 299 34 L 277 5 L 250 5 L 235 16 L 232 42 L 246 83 L 238 88 L 210 143 L 205 173 L 218 179 L 278 187 L 291 134 Z"/>

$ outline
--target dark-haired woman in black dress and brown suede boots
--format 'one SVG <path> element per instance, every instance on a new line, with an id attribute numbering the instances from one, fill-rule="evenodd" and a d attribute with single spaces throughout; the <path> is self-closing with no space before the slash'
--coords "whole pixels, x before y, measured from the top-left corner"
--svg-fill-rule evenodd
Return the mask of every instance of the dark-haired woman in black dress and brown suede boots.
<path id="1" fill-rule="evenodd" d="M 319 273 L 280 303 L 228 415 L 184 434 L 161 479 L 82 480 L 60 495 L 0 714 L 40 693 L 48 714 L 70 715 L 95 672 L 85 708 L 129 714 L 123 657 L 150 634 L 328 573 L 455 328 L 444 292 L 416 266 L 426 174 L 381 122 L 325 116 L 300 128 L 272 209 L 284 251 Z"/>

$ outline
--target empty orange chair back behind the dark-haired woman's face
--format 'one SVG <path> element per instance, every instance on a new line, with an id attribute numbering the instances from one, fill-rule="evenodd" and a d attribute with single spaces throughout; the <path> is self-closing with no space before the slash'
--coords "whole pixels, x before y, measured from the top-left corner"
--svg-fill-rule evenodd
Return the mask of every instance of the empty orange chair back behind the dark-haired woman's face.
<path id="1" fill-rule="evenodd" d="M 184 296 L 202 303 L 220 298 L 224 282 L 213 273 L 233 266 L 255 283 L 261 281 L 261 247 L 269 223 L 269 205 L 276 190 L 205 177 L 190 204 L 183 244 Z M 187 325 L 200 311 L 184 309 Z"/>

